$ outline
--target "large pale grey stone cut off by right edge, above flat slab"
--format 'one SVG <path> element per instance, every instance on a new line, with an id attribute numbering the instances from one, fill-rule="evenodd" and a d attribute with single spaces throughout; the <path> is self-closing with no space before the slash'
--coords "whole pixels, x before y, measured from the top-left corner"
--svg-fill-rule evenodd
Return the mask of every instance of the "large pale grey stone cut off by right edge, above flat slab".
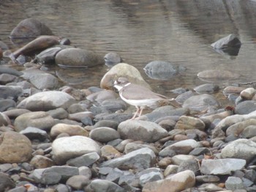
<path id="1" fill-rule="evenodd" d="M 241 158 L 246 162 L 255 158 L 256 142 L 249 139 L 237 139 L 228 143 L 221 151 L 222 158 Z"/>

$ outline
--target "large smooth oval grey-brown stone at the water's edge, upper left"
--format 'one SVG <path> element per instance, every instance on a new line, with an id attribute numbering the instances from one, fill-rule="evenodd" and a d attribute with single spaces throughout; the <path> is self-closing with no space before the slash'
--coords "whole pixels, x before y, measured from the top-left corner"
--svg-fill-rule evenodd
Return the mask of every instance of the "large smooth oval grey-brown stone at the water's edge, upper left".
<path id="1" fill-rule="evenodd" d="M 104 64 L 102 57 L 90 50 L 67 48 L 56 54 L 55 62 L 64 67 L 89 67 Z"/>

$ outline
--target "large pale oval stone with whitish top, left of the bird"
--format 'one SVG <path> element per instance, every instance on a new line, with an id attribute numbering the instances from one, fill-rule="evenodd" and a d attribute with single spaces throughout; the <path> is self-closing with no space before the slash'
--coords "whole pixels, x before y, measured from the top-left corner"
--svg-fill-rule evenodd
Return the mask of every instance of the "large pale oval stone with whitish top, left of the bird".
<path id="1" fill-rule="evenodd" d="M 44 91 L 35 93 L 18 104 L 18 108 L 31 111 L 48 111 L 62 107 L 67 109 L 75 99 L 62 91 Z"/>

